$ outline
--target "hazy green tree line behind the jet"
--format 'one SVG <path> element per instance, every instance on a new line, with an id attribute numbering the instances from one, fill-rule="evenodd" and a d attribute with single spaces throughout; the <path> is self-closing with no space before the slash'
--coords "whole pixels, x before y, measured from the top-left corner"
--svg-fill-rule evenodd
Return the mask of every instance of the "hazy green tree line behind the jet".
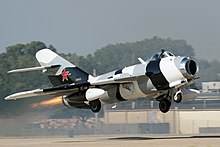
<path id="1" fill-rule="evenodd" d="M 46 75 L 41 72 L 7 74 L 7 71 L 11 69 L 39 66 L 35 59 L 35 53 L 43 48 L 49 48 L 58 52 L 52 45 L 47 46 L 43 42 L 32 41 L 27 44 L 8 46 L 6 52 L 0 54 L 0 117 L 11 114 L 20 115 L 27 111 L 32 103 L 42 100 L 39 98 L 7 102 L 3 100 L 5 96 L 23 90 L 51 86 Z M 138 63 L 138 57 L 147 60 L 155 52 L 160 52 L 161 48 L 165 48 L 176 55 L 195 58 L 194 48 L 185 40 L 164 39 L 160 37 L 137 42 L 109 44 L 101 49 L 97 49 L 94 54 L 86 56 L 79 56 L 75 53 L 59 54 L 90 74 L 93 74 L 93 70 L 96 69 L 97 75 L 99 75 L 136 64 Z M 200 66 L 200 79 L 196 82 L 197 88 L 201 88 L 201 81 L 220 80 L 218 75 L 220 73 L 219 61 L 196 60 Z"/>

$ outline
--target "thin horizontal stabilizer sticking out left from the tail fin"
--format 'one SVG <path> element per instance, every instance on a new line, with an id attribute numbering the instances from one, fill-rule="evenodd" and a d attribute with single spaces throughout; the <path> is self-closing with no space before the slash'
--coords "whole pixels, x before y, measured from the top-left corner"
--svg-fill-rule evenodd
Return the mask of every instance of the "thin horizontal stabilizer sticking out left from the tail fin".
<path id="1" fill-rule="evenodd" d="M 60 65 L 51 65 L 51 66 L 40 66 L 40 67 L 31 67 L 31 68 L 22 68 L 22 69 L 14 69 L 10 70 L 7 73 L 17 73 L 17 72 L 29 72 L 29 71 L 42 71 L 52 68 L 58 68 Z"/>

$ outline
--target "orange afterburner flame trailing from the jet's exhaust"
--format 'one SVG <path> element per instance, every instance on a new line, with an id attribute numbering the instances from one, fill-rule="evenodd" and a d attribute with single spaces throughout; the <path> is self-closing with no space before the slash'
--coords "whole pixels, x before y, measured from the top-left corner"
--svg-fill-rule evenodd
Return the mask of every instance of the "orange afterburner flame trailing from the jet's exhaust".
<path id="1" fill-rule="evenodd" d="M 32 104 L 32 108 L 36 107 L 45 107 L 45 106 L 54 106 L 62 103 L 62 96 L 54 97 L 50 100 L 42 101 L 40 103 Z"/>

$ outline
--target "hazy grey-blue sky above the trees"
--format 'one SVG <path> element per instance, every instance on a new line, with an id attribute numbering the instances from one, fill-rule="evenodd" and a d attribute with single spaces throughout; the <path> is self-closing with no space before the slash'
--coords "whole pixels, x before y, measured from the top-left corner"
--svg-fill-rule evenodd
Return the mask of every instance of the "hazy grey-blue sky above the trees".
<path id="1" fill-rule="evenodd" d="M 218 59 L 220 1 L 0 0 L 0 52 L 39 40 L 85 55 L 153 36 L 184 39 L 197 57 Z"/>

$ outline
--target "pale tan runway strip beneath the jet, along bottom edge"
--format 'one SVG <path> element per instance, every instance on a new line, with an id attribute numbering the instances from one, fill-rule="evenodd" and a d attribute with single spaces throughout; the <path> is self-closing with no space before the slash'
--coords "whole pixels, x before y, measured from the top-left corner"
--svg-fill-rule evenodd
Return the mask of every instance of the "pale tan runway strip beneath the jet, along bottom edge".
<path id="1" fill-rule="evenodd" d="M 79 136 L 0 138 L 1 147 L 220 147 L 220 136 Z"/>

